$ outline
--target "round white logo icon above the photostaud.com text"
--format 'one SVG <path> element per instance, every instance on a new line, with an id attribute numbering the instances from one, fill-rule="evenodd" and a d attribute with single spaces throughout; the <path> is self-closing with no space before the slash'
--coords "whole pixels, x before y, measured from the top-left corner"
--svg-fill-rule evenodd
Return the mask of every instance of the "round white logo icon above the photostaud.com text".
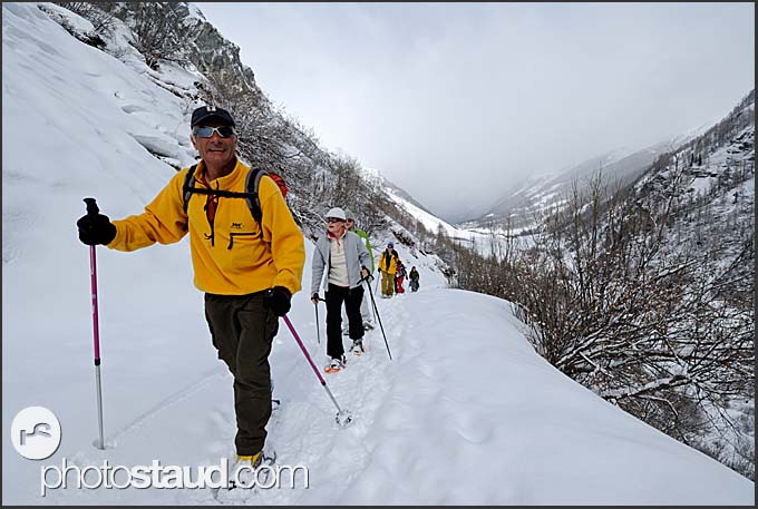
<path id="1" fill-rule="evenodd" d="M 60 422 L 45 407 L 27 407 L 13 418 L 10 437 L 19 454 L 29 460 L 43 460 L 60 446 Z"/>

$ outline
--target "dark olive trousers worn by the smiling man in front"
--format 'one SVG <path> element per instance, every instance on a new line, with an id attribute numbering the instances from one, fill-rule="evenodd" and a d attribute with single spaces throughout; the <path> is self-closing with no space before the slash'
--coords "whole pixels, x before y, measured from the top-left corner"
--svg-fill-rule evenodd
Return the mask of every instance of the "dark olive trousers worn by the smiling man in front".
<path id="1" fill-rule="evenodd" d="M 234 375 L 237 454 L 263 450 L 271 418 L 269 354 L 279 319 L 263 305 L 263 292 L 250 295 L 205 294 L 205 320 L 218 359 Z"/>

